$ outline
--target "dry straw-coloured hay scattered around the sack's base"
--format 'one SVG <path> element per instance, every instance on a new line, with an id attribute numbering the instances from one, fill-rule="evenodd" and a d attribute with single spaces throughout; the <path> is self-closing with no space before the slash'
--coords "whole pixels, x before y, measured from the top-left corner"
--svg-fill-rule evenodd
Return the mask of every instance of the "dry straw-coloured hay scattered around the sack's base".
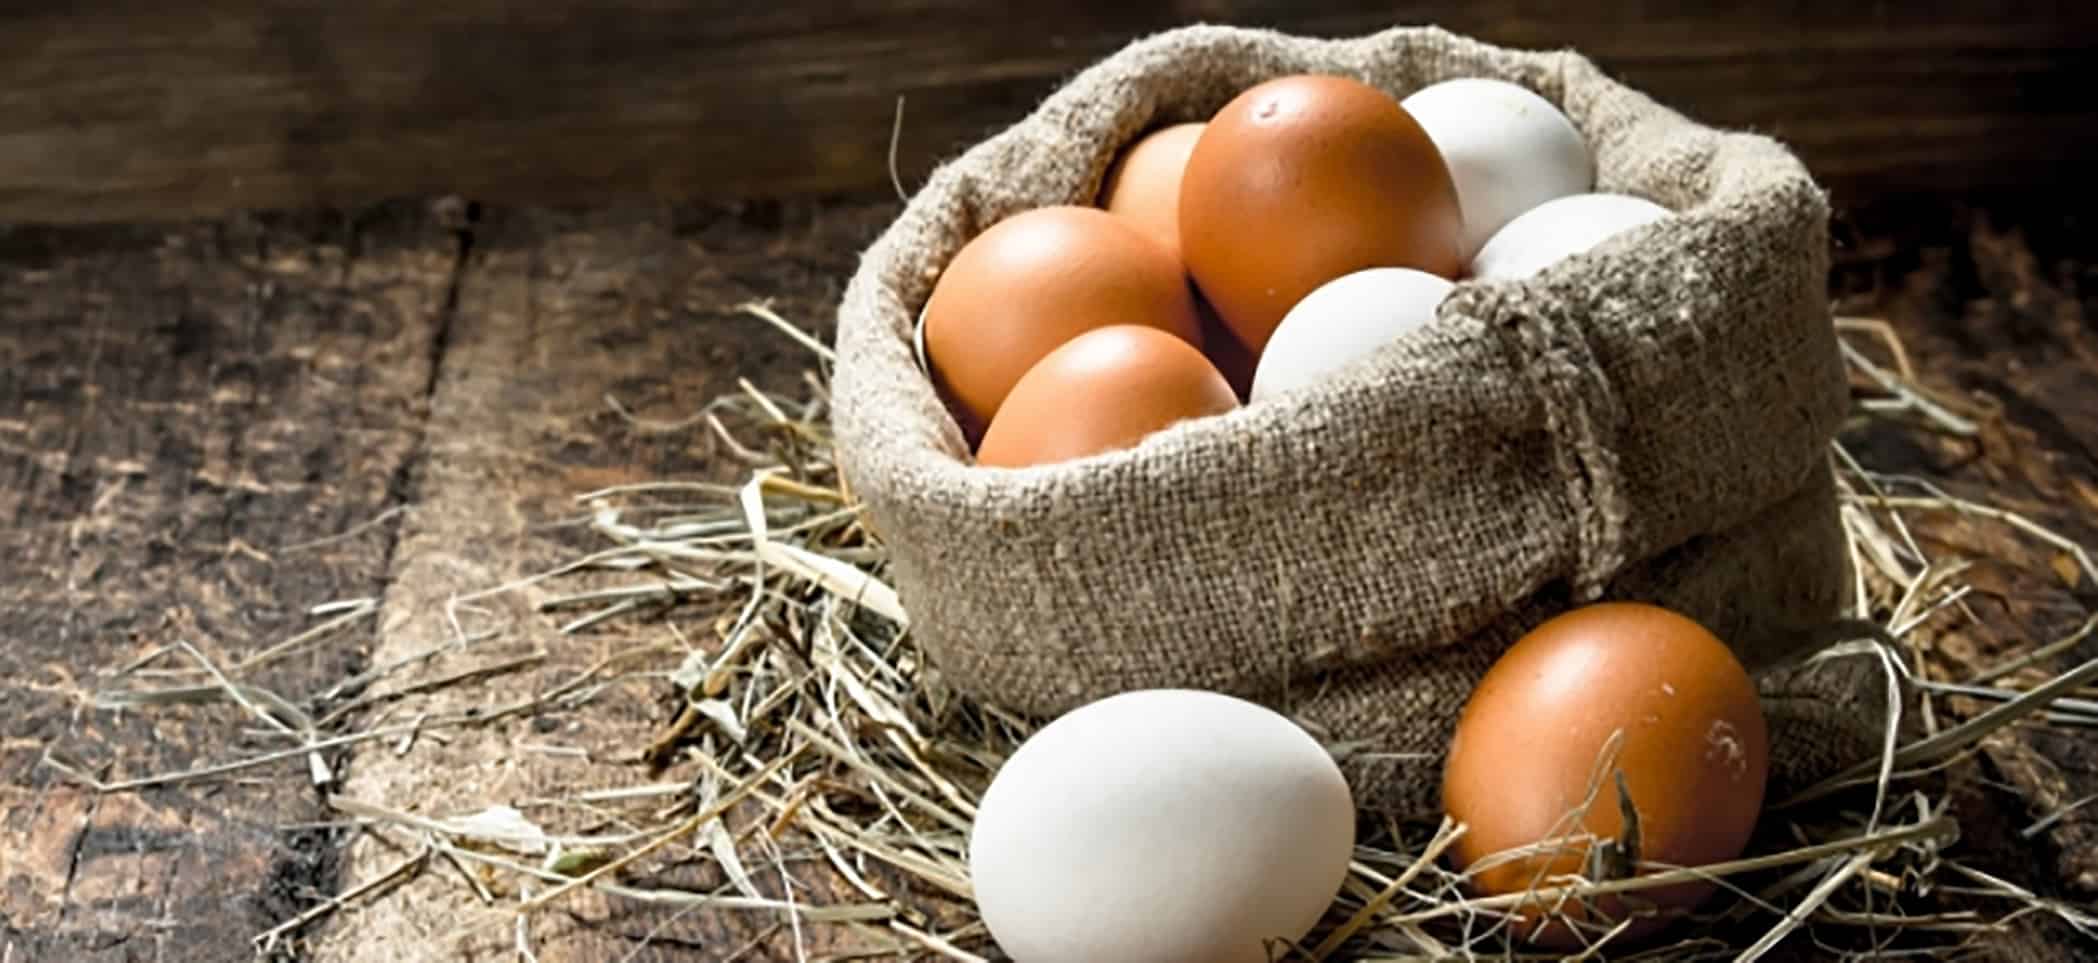
<path id="1" fill-rule="evenodd" d="M 493 799 L 346 799 L 331 806 L 363 831 L 386 829 L 420 841 L 407 858 L 367 879 L 346 881 L 334 898 L 256 934 L 271 953 L 302 927 L 386 892 L 438 860 L 514 877 L 518 953 L 531 957 L 529 921 L 537 911 L 590 887 L 615 900 L 673 906 L 680 913 L 772 915 L 772 953 L 816 959 L 806 950 L 818 927 L 848 932 L 869 955 L 994 959 L 973 917 L 965 839 L 976 801 L 1001 759 L 1030 732 L 1030 722 L 973 705 L 940 686 L 906 629 L 906 613 L 881 581 L 883 552 L 837 478 L 827 436 L 829 348 L 762 304 L 745 313 L 806 346 L 814 371 L 806 397 L 768 397 L 747 382 L 690 422 L 749 462 L 741 487 L 665 480 L 581 493 L 577 504 L 602 548 L 535 575 L 539 608 L 562 632 L 613 619 L 659 619 L 665 606 L 713 606 L 718 638 L 644 646 L 615 659 L 640 661 L 673 686 L 676 705 L 661 732 L 631 753 L 684 766 L 694 778 L 585 791 L 531 814 Z M 1907 420 L 1930 430 L 1972 434 L 1974 422 L 1932 399 L 1915 382 L 1901 342 L 1878 321 L 1844 319 L 1844 352 L 1874 390 L 1859 407 L 1869 418 Z M 1880 361 L 1874 361 L 1874 359 Z M 617 409 L 617 405 L 615 405 Z M 1580 902 L 1636 892 L 1687 877 L 1716 879 L 1733 898 L 1712 900 L 1695 925 L 1672 929 L 1683 942 L 1647 946 L 1626 959 L 1758 959 L 1804 929 L 1829 953 L 1951 959 L 2025 915 L 2052 915 L 2098 940 L 2098 917 L 1962 862 L 1960 812 L 1949 780 L 1964 774 L 1981 741 L 2006 726 L 2098 726 L 2098 705 L 2077 690 L 2098 678 L 2098 661 L 2037 686 L 2006 688 L 2016 669 L 2043 665 L 2075 646 L 2098 617 L 2071 638 L 2035 646 L 2012 663 L 1964 682 L 1934 682 L 1915 671 L 1911 644 L 1926 625 L 1962 619 L 1968 562 L 1930 556 L 1909 520 L 1964 512 L 2014 531 L 2046 552 L 1999 558 L 2039 566 L 2067 556 L 2085 579 L 2098 569 L 2081 545 L 2018 514 L 1949 497 L 1924 480 L 1882 476 L 1840 447 L 1842 516 L 1857 562 L 1857 617 L 1878 629 L 1836 644 L 1819 659 L 1871 659 L 1890 680 L 1888 694 L 1920 692 L 1920 734 L 1888 730 L 1880 759 L 1794 799 L 1773 799 L 1750 854 L 1716 866 L 1647 866 L 1651 875 L 1594 883 L 1550 879 L 1553 898 Z M 606 583 L 611 579 L 611 583 Z M 480 596 L 518 592 L 491 585 Z M 468 604 L 470 598 L 453 600 Z M 329 644 L 369 621 L 378 600 L 317 606 L 315 625 L 235 665 L 212 665 L 191 646 L 149 652 L 109 667 L 94 705 L 151 711 L 172 703 L 229 703 L 281 747 L 185 772 L 130 778 L 90 774 L 50 755 L 48 766 L 99 791 L 227 776 L 311 778 L 327 785 L 325 751 L 394 741 L 447 726 L 491 726 L 548 707 L 587 703 L 606 663 L 548 692 L 474 715 L 430 715 L 413 724 L 361 728 L 367 692 L 413 661 L 378 665 L 325 692 L 285 697 L 248 680 L 275 659 Z M 457 621 L 453 621 L 457 625 Z M 489 634 L 464 627 L 449 642 L 472 646 Z M 529 657 L 527 657 L 529 659 Z M 491 686 L 506 665 L 422 680 L 390 699 L 455 686 Z M 1989 705 L 1957 720 L 1949 699 Z M 327 713 L 315 707 L 331 705 Z M 413 713 L 409 713 L 413 715 Z M 231 726 L 229 726 L 231 728 Z M 229 741 L 231 745 L 231 741 Z M 1601 785 L 1601 780 L 1599 780 Z M 2039 818 L 2027 835 L 2064 816 L 2071 804 Z M 1303 946 L 1278 946 L 1278 959 L 1473 959 L 1508 957 L 1511 898 L 1477 898 L 1464 877 L 1437 856 L 1462 827 L 1364 820 L 1351 873 L 1326 921 Z M 688 892 L 638 881 L 652 860 L 713 860 L 728 885 Z M 814 869 L 812 869 L 814 866 Z M 835 900 L 778 883 L 825 873 L 841 881 Z M 474 873 L 447 879 L 480 890 Z M 904 885 L 906 883 L 906 885 Z M 1590 957 L 1615 955 L 1615 932 L 1588 929 Z"/>

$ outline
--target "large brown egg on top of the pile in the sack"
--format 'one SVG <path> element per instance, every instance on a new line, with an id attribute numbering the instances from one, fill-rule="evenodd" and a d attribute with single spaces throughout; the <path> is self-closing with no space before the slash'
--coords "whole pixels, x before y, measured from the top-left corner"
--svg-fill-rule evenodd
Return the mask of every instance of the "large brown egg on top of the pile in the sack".
<path id="1" fill-rule="evenodd" d="M 1179 222 L 1181 260 L 1255 357 L 1341 275 L 1464 269 L 1435 143 L 1391 94 L 1347 78 L 1269 80 L 1217 111 L 1187 157 Z"/>

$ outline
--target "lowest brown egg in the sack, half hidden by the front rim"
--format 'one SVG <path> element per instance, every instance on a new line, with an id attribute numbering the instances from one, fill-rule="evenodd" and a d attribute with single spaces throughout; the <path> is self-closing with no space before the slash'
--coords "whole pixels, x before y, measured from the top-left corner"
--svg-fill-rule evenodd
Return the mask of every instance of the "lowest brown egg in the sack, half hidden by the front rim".
<path id="1" fill-rule="evenodd" d="M 1041 466 L 1116 451 L 1190 418 L 1238 407 L 1185 340 L 1143 325 L 1085 331 L 1051 350 L 984 430 L 980 466 Z"/>

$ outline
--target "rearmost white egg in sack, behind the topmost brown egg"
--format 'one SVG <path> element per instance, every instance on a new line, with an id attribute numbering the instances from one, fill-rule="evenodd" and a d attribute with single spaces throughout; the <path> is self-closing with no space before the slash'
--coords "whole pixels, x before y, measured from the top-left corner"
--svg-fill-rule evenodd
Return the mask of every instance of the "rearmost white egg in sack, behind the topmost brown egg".
<path id="1" fill-rule="evenodd" d="M 1521 212 L 1594 187 L 1594 157 L 1580 130 L 1525 86 L 1458 78 L 1399 103 L 1450 166 L 1467 258 Z"/>

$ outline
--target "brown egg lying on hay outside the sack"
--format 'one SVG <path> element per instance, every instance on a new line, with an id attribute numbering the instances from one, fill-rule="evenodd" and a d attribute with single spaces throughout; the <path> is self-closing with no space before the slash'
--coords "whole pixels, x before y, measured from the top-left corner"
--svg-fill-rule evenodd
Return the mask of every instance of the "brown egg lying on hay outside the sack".
<path id="1" fill-rule="evenodd" d="M 1574 822 L 1599 757 L 1620 730 L 1615 766 L 1603 772 L 1601 793 Z M 1651 604 L 1576 608 L 1511 646 L 1458 718 L 1443 808 L 1469 831 L 1452 848 L 1452 862 L 1471 869 L 1485 856 L 1582 831 L 1618 839 L 1620 772 L 1639 814 L 1639 860 L 1725 862 L 1741 854 L 1756 829 L 1767 770 L 1769 736 L 1756 686 L 1718 638 Z M 1479 864 L 1473 885 L 1485 894 L 1553 885 L 1546 877 L 1584 873 L 1588 850 L 1584 841 L 1567 841 L 1555 854 Z M 1710 892 L 1712 883 L 1641 890 L 1622 900 L 1592 900 L 1592 913 L 1569 902 L 1565 915 L 1613 921 L 1636 908 L 1695 906 Z M 1536 904 L 1523 915 L 1542 921 Z M 1657 925 L 1641 919 L 1626 938 Z M 1521 932 L 1546 946 L 1578 946 L 1578 936 L 1559 923 L 1525 923 Z"/>

